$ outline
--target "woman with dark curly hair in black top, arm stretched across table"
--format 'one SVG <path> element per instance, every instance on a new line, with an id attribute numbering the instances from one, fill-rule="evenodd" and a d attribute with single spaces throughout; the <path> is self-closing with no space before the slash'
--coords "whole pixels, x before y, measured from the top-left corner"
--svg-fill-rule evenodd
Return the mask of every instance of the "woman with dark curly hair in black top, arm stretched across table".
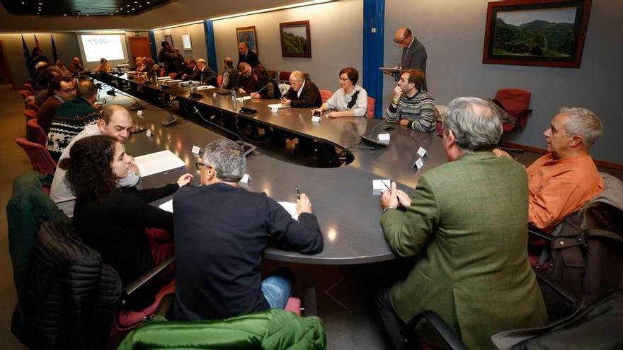
<path id="1" fill-rule="evenodd" d="M 121 277 L 126 286 L 154 266 L 145 228 L 173 232 L 173 215 L 149 205 L 176 192 L 193 178 L 184 174 L 163 187 L 124 191 L 117 187 L 127 175 L 132 157 L 110 136 L 90 136 L 72 146 L 59 167 L 76 194 L 74 227 Z"/>

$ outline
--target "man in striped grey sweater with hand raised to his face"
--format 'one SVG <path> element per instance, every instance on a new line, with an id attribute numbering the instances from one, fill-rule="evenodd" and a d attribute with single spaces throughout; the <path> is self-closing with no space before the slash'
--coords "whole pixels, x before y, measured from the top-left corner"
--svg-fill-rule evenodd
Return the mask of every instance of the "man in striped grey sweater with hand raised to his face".
<path id="1" fill-rule="evenodd" d="M 433 132 L 438 111 L 433 97 L 422 90 L 424 74 L 421 69 L 403 69 L 394 88 L 394 97 L 387 107 L 387 122 L 409 127 L 418 132 Z"/>

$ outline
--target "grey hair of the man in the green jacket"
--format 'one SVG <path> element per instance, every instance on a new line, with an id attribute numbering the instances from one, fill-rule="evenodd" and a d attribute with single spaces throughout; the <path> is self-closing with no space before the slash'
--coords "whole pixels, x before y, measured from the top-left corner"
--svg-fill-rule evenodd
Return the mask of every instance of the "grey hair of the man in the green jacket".
<path id="1" fill-rule="evenodd" d="M 482 98 L 460 97 L 448 104 L 444 132 L 452 130 L 463 151 L 489 151 L 500 142 L 502 119 L 496 107 Z"/>

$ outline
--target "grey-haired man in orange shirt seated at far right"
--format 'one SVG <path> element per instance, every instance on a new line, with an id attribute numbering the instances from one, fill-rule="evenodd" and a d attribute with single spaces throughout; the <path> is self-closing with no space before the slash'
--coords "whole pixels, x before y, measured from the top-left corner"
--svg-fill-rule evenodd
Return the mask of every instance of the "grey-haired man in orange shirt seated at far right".
<path id="1" fill-rule="evenodd" d="M 597 115 L 586 108 L 563 107 L 551 119 L 543 133 L 548 153 L 527 168 L 530 225 L 550 233 L 603 191 L 603 179 L 588 151 L 602 128 Z"/>

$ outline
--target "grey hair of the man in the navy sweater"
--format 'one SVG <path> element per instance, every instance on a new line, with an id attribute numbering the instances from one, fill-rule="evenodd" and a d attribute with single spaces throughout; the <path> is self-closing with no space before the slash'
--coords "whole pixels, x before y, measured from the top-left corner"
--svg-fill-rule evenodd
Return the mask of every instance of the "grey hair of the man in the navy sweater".
<path id="1" fill-rule="evenodd" d="M 203 163 L 214 168 L 217 177 L 227 182 L 239 182 L 246 168 L 242 146 L 230 139 L 219 139 L 205 146 Z"/>

